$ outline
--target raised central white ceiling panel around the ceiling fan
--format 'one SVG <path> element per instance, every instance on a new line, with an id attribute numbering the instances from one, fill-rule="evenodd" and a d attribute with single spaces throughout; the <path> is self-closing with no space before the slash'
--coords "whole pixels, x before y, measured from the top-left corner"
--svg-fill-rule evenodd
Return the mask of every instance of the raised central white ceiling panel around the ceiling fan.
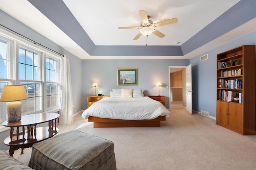
<path id="1" fill-rule="evenodd" d="M 178 18 L 178 23 L 156 29 L 166 36 L 148 37 L 148 45 L 175 45 L 190 37 L 218 18 L 238 0 L 106 0 L 74 1 L 64 3 L 82 25 L 95 45 L 145 45 L 146 37 L 133 38 L 139 29 L 118 29 L 123 26 L 140 26 L 139 10 L 147 11 L 154 23 Z"/>

